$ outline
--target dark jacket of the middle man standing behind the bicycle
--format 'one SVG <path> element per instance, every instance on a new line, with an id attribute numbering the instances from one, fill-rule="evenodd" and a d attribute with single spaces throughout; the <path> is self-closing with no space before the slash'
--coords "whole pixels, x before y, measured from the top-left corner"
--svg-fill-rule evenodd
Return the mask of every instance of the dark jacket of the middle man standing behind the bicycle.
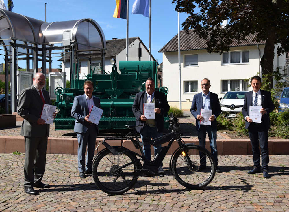
<path id="1" fill-rule="evenodd" d="M 137 127 L 136 130 L 140 133 L 144 127 L 145 121 L 140 120 L 140 116 L 143 115 L 144 111 L 144 103 L 147 102 L 147 92 L 141 91 L 136 94 L 136 97 L 134 98 L 134 103 L 132 105 L 132 112 L 134 113 L 134 116 L 136 117 L 136 125 L 141 125 L 141 127 Z M 154 102 L 155 102 L 155 108 L 160 108 L 161 113 L 155 113 L 155 123 L 156 127 L 158 129 L 158 132 L 164 131 L 164 115 L 168 112 L 170 109 L 170 106 L 168 105 L 168 101 L 166 100 L 166 96 L 164 93 L 155 91 L 154 94 Z"/>

